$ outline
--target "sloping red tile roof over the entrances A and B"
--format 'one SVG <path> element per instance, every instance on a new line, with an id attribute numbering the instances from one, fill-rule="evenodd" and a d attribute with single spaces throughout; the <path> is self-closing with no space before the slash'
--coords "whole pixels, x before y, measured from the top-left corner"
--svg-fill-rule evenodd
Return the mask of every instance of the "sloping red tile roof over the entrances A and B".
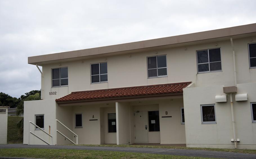
<path id="1" fill-rule="evenodd" d="M 56 102 L 102 99 L 111 97 L 129 97 L 139 95 L 154 95 L 164 93 L 181 93 L 191 82 L 169 83 L 161 85 L 135 86 L 125 88 L 112 88 L 104 90 L 89 90 L 80 92 L 71 92 L 69 95 L 56 99 Z"/>

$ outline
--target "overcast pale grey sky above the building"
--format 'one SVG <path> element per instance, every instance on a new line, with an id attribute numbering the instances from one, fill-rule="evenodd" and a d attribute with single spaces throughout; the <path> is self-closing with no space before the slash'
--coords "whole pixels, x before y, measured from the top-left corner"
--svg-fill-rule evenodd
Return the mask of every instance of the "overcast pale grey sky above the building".
<path id="1" fill-rule="evenodd" d="M 40 90 L 27 57 L 256 23 L 256 1 L 0 0 L 0 92 Z"/>

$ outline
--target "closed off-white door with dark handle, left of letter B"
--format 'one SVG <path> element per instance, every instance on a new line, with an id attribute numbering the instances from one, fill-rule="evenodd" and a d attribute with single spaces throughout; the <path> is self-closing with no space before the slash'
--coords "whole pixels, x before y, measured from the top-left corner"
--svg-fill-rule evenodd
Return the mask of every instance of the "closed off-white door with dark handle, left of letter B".
<path id="1" fill-rule="evenodd" d="M 134 115 L 135 120 L 135 142 L 148 141 L 148 114 L 147 111 L 137 111 Z"/>

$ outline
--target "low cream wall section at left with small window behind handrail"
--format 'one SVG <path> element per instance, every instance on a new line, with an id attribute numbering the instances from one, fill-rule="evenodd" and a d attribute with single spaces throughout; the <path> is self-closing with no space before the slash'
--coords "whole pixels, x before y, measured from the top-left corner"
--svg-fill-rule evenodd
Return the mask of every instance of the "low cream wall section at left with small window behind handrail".
<path id="1" fill-rule="evenodd" d="M 28 141 L 29 144 L 46 144 L 34 135 L 30 134 L 30 131 L 47 141 L 49 144 L 52 144 L 51 137 L 41 130 L 35 130 L 35 126 L 32 124 L 30 124 L 29 129 L 29 121 L 35 123 L 35 115 L 38 114 L 44 114 L 44 130 L 49 133 L 49 126 L 51 127 L 50 134 L 53 136 L 53 144 L 56 144 L 56 107 L 57 104 L 55 99 L 24 101 L 23 144 L 28 144 Z M 28 136 L 30 136 L 29 140 Z"/>

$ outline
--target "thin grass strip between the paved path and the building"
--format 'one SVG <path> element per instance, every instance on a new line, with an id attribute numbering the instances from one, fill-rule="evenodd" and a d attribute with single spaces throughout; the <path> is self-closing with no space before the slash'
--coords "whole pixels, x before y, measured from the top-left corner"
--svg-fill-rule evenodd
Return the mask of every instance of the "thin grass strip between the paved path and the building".
<path id="1" fill-rule="evenodd" d="M 235 153 L 250 153 L 256 154 L 256 150 L 250 149 L 218 149 L 218 148 L 187 148 L 187 147 L 175 147 L 175 146 L 151 146 L 151 145 L 115 145 L 115 144 L 102 144 L 102 145 L 85 145 L 78 146 L 109 146 L 109 147 L 133 147 L 133 148 L 169 148 L 169 149 L 194 149 L 194 150 L 208 150 L 208 151 L 223 151 L 223 152 L 235 152 Z"/>

